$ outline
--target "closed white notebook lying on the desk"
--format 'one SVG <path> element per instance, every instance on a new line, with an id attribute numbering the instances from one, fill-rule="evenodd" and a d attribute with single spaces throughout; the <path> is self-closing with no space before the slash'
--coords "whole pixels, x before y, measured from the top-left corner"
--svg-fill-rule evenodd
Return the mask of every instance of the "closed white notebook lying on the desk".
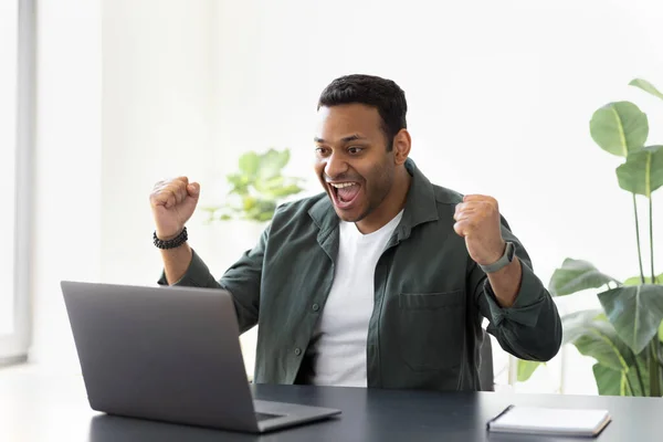
<path id="1" fill-rule="evenodd" d="M 611 417 L 608 410 L 509 406 L 487 423 L 488 431 L 596 436 Z"/>

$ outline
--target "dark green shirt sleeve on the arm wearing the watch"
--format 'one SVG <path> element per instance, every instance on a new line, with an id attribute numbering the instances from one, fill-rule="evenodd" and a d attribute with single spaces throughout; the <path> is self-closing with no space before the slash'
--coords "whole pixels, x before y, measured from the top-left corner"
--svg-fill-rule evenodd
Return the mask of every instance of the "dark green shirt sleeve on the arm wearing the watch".
<path id="1" fill-rule="evenodd" d="M 514 243 L 523 269 L 518 294 L 511 307 L 499 306 L 487 275 L 471 262 L 470 280 L 478 311 L 490 322 L 487 332 L 497 338 L 504 350 L 520 359 L 549 360 L 561 346 L 561 319 L 557 306 L 535 275 L 525 248 L 504 219 L 502 234 L 505 241 Z"/>

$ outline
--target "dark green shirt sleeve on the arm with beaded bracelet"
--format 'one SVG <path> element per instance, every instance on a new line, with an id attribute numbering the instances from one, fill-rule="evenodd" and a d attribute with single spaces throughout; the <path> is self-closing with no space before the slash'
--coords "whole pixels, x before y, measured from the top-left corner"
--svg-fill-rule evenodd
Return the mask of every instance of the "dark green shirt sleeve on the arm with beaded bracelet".
<path id="1" fill-rule="evenodd" d="M 193 250 L 191 263 L 182 277 L 172 285 L 191 287 L 220 288 L 230 292 L 233 298 L 240 332 L 244 333 L 257 324 L 260 312 L 260 287 L 269 228 L 265 229 L 257 244 L 225 271 L 217 281 L 207 264 Z M 161 271 L 159 285 L 168 285 L 166 273 Z"/>

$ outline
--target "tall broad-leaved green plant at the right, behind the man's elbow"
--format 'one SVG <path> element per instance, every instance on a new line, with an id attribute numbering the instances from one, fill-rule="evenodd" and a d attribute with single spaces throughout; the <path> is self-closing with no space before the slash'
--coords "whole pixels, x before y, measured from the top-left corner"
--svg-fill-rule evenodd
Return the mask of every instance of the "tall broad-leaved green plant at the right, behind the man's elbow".
<path id="1" fill-rule="evenodd" d="M 661 99 L 663 94 L 645 80 L 629 83 Z M 654 266 L 652 193 L 663 186 L 663 146 L 645 146 L 648 116 L 631 102 L 608 103 L 589 124 L 592 139 L 607 152 L 622 157 L 617 180 L 632 194 L 640 274 L 620 281 L 591 263 L 566 259 L 550 278 L 552 296 L 598 288 L 600 309 L 562 317 L 564 344 L 593 357 L 599 394 L 662 396 L 663 383 L 663 273 Z M 646 201 L 649 265 L 643 264 L 639 200 Z M 660 224 L 661 225 L 661 224 Z M 645 263 L 646 263 L 645 259 Z M 526 380 L 538 362 L 518 361 L 518 380 Z"/>

